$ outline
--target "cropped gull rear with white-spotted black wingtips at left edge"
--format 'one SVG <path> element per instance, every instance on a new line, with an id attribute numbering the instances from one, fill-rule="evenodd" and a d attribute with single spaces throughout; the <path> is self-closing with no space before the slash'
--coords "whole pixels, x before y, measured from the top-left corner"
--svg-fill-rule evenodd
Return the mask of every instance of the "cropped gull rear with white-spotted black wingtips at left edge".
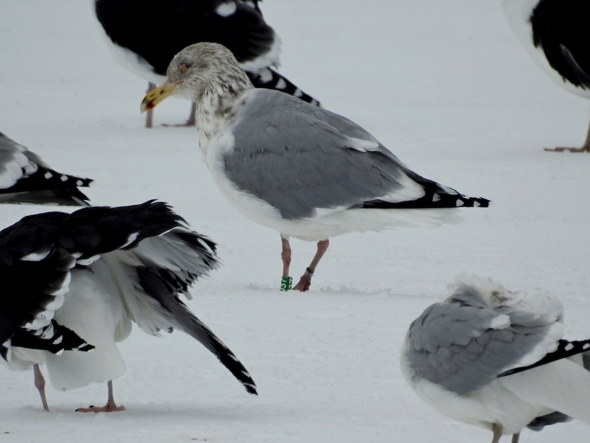
<path id="1" fill-rule="evenodd" d="M 37 154 L 0 132 L 0 203 L 88 206 L 78 187 L 90 178 L 54 171 Z"/>

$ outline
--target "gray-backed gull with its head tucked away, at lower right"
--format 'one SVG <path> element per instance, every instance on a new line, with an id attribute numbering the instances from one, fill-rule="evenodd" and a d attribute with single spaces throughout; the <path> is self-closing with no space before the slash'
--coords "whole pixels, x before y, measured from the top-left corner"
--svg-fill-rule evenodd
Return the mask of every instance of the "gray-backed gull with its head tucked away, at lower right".
<path id="1" fill-rule="evenodd" d="M 402 351 L 408 383 L 434 409 L 519 439 L 525 426 L 590 424 L 590 340 L 563 340 L 559 300 L 461 276 L 452 295 L 412 322 Z M 584 367 L 586 365 L 586 369 Z"/>

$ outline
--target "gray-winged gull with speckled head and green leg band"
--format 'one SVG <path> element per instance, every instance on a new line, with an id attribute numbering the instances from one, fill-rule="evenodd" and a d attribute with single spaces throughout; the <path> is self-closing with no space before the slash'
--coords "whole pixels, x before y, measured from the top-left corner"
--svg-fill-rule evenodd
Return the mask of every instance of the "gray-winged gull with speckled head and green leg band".
<path id="1" fill-rule="evenodd" d="M 318 242 L 293 288 L 306 291 L 330 236 L 438 226 L 457 222 L 457 207 L 489 204 L 409 170 L 345 117 L 255 89 L 222 45 L 183 49 L 141 109 L 173 94 L 196 103 L 201 150 L 222 194 L 242 214 L 281 234 L 282 289 L 290 286 L 289 237 Z"/>

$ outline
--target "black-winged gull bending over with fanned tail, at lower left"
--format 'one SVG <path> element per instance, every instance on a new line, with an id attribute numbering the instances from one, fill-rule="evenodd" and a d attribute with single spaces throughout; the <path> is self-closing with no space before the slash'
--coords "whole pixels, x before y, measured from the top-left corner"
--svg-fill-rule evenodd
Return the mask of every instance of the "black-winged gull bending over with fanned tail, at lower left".
<path id="1" fill-rule="evenodd" d="M 179 297 L 190 299 L 189 285 L 217 266 L 215 243 L 162 202 L 25 217 L 0 232 L 0 361 L 34 367 L 46 411 L 42 363 L 56 389 L 108 382 L 106 406 L 79 411 L 120 411 L 112 380 L 125 364 L 116 342 L 133 321 L 151 335 L 191 335 L 255 394 L 245 367 Z"/>

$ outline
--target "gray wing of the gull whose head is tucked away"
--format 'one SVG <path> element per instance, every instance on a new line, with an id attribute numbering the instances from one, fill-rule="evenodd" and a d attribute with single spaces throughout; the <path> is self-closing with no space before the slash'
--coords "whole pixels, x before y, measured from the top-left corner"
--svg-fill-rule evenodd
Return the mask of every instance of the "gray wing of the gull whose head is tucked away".
<path id="1" fill-rule="evenodd" d="M 470 292 L 427 308 L 411 325 L 406 357 L 415 377 L 466 395 L 552 341 L 555 321 L 506 306 L 491 307 Z M 556 344 L 556 343 L 555 343 Z M 548 343 L 548 346 L 551 346 Z"/>

